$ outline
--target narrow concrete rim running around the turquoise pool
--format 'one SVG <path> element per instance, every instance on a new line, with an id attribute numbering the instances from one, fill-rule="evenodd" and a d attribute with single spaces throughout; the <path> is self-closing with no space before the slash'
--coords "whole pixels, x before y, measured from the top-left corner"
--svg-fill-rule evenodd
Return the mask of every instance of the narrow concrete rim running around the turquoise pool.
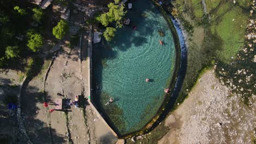
<path id="1" fill-rule="evenodd" d="M 171 33 L 173 35 L 173 40 L 174 40 L 174 47 L 175 47 L 175 51 L 176 51 L 176 58 L 175 58 L 175 65 L 174 65 L 174 73 L 169 85 L 169 88 L 171 89 L 171 92 L 173 92 L 173 89 L 175 87 L 175 83 L 177 80 L 177 76 L 178 76 L 178 71 L 179 71 L 179 64 L 180 64 L 180 59 L 181 59 L 181 46 L 179 45 L 179 37 L 178 34 L 176 32 L 176 28 L 174 27 L 174 23 L 172 22 L 170 16 L 166 13 L 166 11 L 154 0 L 152 0 L 152 2 L 154 3 L 154 6 L 156 9 L 158 9 L 161 13 L 161 15 L 164 17 L 165 21 L 167 22 L 168 27 L 171 30 Z M 92 38 L 92 37 L 91 37 Z M 92 41 L 90 41 L 90 43 L 92 43 Z M 90 103 L 90 105 L 92 105 L 94 111 L 97 113 L 98 117 L 100 117 L 100 119 L 107 125 L 107 127 L 109 128 L 110 131 L 112 131 L 112 133 L 118 137 L 118 138 L 123 138 L 126 139 L 128 137 L 132 137 L 132 136 L 136 136 L 136 135 L 142 135 L 144 133 L 147 133 L 148 131 L 152 130 L 152 125 L 158 123 L 158 119 L 160 117 L 160 115 L 162 115 L 163 111 L 165 110 L 165 107 L 167 106 L 167 104 L 169 103 L 170 99 L 171 99 L 171 94 L 167 94 L 165 95 L 165 100 L 164 102 L 161 104 L 161 106 L 159 107 L 159 110 L 156 112 L 155 116 L 147 123 L 144 125 L 144 127 L 141 130 L 137 130 L 137 131 L 133 131 L 132 133 L 129 134 L 125 134 L 125 135 L 117 135 L 117 133 L 115 133 L 115 131 L 112 129 L 112 127 L 110 127 L 111 124 L 108 124 L 106 122 L 106 120 L 103 118 L 103 116 L 100 115 L 100 111 L 97 110 L 97 105 L 95 105 L 94 103 L 94 99 L 92 97 L 92 88 L 90 86 L 92 86 L 92 44 L 90 44 L 90 46 L 88 47 L 88 55 L 89 55 L 89 62 L 88 65 L 90 65 L 89 67 L 89 81 L 88 81 L 88 90 L 89 90 L 89 95 L 88 95 L 88 101 Z"/>

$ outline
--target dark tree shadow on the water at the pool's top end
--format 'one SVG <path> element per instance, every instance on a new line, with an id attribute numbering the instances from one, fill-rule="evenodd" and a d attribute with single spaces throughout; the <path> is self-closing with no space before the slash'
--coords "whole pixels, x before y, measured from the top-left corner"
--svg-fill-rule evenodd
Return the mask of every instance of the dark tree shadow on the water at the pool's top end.
<path id="1" fill-rule="evenodd" d="M 119 50 L 126 51 L 133 45 L 142 46 L 143 44 L 146 44 L 149 42 L 145 37 L 153 34 L 154 26 L 158 25 L 158 21 L 154 19 L 148 19 L 147 16 L 145 16 L 146 15 L 145 11 L 149 11 L 149 10 L 152 11 L 152 13 L 150 14 L 153 15 L 152 17 L 155 17 L 154 15 L 156 14 L 154 13 L 154 10 L 156 11 L 157 9 L 152 10 L 151 9 L 152 7 L 150 6 L 153 6 L 153 5 L 149 5 L 149 4 L 140 4 L 140 5 L 144 5 L 143 6 L 144 8 L 132 9 L 127 12 L 126 17 L 131 20 L 130 25 L 124 25 L 123 28 L 119 29 L 114 39 L 110 43 L 108 43 L 108 45 L 110 46 L 118 45 Z M 133 29 L 133 27 L 136 27 L 136 29 Z M 125 36 L 124 36 L 124 33 L 125 33 Z M 121 35 L 121 37 L 118 37 L 119 35 Z"/>

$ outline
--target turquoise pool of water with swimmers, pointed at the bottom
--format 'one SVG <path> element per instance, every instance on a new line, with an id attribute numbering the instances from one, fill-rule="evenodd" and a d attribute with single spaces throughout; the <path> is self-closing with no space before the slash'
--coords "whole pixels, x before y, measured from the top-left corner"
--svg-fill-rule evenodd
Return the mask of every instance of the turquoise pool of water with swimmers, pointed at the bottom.
<path id="1" fill-rule="evenodd" d="M 142 129 L 158 112 L 176 59 L 171 30 L 152 3 L 133 2 L 127 17 L 131 26 L 118 29 L 110 43 L 102 40 L 93 50 L 94 100 L 120 135 Z M 105 105 L 110 97 L 114 102 Z"/>

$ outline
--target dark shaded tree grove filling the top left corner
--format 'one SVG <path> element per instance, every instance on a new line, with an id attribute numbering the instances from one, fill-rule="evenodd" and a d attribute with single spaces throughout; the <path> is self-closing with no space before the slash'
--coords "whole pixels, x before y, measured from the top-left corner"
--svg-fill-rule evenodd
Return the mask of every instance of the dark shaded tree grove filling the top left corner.
<path id="1" fill-rule="evenodd" d="M 40 31 L 44 27 L 31 25 L 31 21 L 42 22 L 43 10 L 28 1 L 9 0 L 1 1 L 0 9 L 0 68 L 19 69 L 24 59 L 34 55 L 31 50 L 36 52 L 43 46 Z M 28 31 L 30 28 L 34 30 Z"/>

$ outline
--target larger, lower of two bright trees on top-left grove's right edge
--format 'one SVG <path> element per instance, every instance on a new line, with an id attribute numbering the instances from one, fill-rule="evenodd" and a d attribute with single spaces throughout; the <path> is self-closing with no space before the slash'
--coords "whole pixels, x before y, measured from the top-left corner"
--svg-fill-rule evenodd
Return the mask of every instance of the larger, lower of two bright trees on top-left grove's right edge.
<path id="1" fill-rule="evenodd" d="M 40 34 L 37 33 L 27 33 L 27 37 L 28 37 L 28 43 L 27 46 L 30 47 L 30 49 L 33 52 L 36 52 L 39 50 L 40 47 L 43 46 L 43 37 Z"/>

